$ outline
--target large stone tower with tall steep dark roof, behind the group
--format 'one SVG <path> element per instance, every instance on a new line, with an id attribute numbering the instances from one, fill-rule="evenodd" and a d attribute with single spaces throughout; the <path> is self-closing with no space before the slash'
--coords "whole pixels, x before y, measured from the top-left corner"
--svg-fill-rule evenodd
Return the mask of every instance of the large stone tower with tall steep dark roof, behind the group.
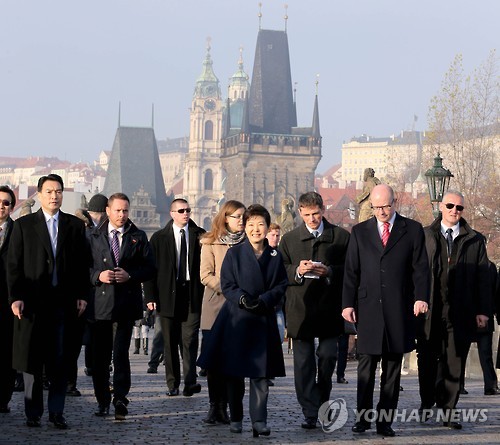
<path id="1" fill-rule="evenodd" d="M 314 188 L 320 159 L 317 95 L 312 125 L 297 127 L 287 34 L 261 29 L 241 121 L 231 113 L 224 129 L 225 196 L 280 213 L 283 199 L 297 203 Z"/>

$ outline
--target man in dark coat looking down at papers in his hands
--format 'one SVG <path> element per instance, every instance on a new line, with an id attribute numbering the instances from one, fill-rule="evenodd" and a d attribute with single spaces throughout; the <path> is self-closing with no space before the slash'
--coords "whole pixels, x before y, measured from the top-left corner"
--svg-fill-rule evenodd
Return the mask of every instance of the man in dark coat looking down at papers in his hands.
<path id="1" fill-rule="evenodd" d="M 304 222 L 286 233 L 279 246 L 289 281 L 285 313 L 288 337 L 293 339 L 295 391 L 306 429 L 316 428 L 319 407 L 330 397 L 337 340 L 344 332 L 340 312 L 349 233 L 330 224 L 324 212 L 321 195 L 301 195 Z"/>

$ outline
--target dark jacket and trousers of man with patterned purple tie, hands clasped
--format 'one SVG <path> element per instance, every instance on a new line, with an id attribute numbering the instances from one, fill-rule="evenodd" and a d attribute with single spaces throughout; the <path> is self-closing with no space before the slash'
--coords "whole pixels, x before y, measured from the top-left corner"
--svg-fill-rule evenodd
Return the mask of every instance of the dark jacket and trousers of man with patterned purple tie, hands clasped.
<path id="1" fill-rule="evenodd" d="M 134 321 L 143 316 L 141 283 L 154 276 L 153 253 L 146 234 L 128 221 L 122 235 L 118 266 L 128 272 L 130 279 L 106 284 L 99 281 L 100 273 L 115 267 L 107 222 L 90 231 L 89 244 L 93 259 L 90 281 L 95 286 L 88 311 L 95 396 L 100 406 L 110 405 L 109 365 L 113 356 L 114 399 L 127 405 L 131 385 L 130 339 Z"/>

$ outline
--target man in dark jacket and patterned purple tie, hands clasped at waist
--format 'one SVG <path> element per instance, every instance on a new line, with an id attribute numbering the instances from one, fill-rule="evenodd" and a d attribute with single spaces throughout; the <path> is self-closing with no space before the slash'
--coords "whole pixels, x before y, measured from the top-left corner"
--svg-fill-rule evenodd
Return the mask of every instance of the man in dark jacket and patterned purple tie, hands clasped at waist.
<path id="1" fill-rule="evenodd" d="M 128 219 L 127 195 L 111 195 L 107 222 L 92 229 L 90 281 L 95 286 L 91 300 L 92 381 L 98 403 L 96 416 L 109 414 L 111 393 L 109 366 L 113 357 L 113 405 L 115 419 L 128 414 L 130 390 L 129 348 L 135 320 L 142 318 L 141 284 L 154 276 L 153 254 L 146 234 Z"/>

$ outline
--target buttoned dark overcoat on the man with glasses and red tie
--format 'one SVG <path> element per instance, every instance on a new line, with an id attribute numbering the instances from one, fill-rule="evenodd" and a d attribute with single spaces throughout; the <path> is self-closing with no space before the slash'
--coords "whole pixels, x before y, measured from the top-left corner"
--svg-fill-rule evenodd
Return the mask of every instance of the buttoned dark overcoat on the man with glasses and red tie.
<path id="1" fill-rule="evenodd" d="M 402 354 L 415 349 L 415 301 L 429 301 L 429 266 L 420 223 L 396 214 L 387 246 L 375 217 L 353 227 L 342 307 L 354 307 L 358 353 Z"/>

